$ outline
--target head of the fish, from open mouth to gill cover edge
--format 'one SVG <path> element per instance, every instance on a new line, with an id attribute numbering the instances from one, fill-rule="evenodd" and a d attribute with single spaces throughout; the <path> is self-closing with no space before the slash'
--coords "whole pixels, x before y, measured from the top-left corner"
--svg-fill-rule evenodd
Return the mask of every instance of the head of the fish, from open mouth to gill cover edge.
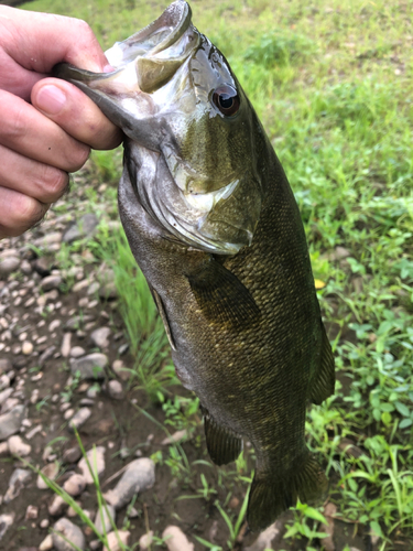
<path id="1" fill-rule="evenodd" d="M 233 255 L 251 244 L 263 198 L 263 131 L 224 55 L 177 0 L 106 52 L 111 73 L 68 64 L 56 76 L 83 89 L 124 134 L 124 177 L 174 239 Z M 120 205 L 122 208 L 122 205 Z"/>

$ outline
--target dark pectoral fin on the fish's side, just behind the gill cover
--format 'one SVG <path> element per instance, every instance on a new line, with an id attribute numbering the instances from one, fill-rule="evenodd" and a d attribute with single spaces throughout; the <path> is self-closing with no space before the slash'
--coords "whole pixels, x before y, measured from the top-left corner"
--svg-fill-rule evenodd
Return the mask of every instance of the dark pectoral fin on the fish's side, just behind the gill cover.
<path id="1" fill-rule="evenodd" d="M 225 266 L 209 257 L 188 276 L 191 289 L 209 322 L 231 328 L 248 327 L 260 317 L 260 309 L 248 289 Z"/>

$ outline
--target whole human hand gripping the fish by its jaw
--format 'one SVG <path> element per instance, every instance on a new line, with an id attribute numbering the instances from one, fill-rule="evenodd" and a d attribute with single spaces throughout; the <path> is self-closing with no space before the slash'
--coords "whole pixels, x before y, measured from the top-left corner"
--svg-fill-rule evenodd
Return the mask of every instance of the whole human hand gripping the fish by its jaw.
<path id="1" fill-rule="evenodd" d="M 122 139 L 78 88 L 47 77 L 58 62 L 110 71 L 84 21 L 0 6 L 0 239 L 42 219 L 90 148 Z"/>

